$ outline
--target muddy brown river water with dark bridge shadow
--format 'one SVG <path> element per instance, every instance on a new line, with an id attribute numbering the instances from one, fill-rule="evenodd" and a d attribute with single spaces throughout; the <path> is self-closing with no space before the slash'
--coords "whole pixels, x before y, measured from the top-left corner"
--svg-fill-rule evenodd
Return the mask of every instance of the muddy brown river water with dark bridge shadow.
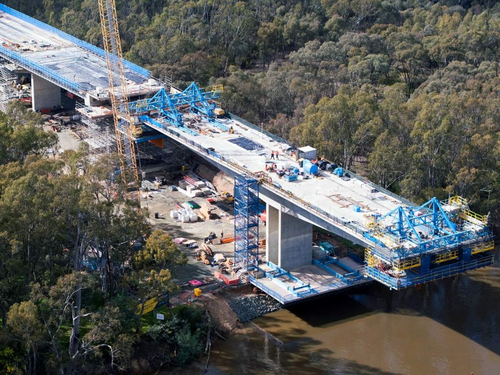
<path id="1" fill-rule="evenodd" d="M 276 311 L 217 341 L 207 373 L 471 372 L 500 374 L 498 266 L 399 292 L 373 283 Z"/>

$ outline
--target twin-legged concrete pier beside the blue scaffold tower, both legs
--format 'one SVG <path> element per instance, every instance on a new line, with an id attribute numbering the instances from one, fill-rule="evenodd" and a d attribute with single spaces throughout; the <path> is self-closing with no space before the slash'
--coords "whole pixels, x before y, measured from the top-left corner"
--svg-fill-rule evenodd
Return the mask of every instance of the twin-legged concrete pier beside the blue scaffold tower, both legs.
<path id="1" fill-rule="evenodd" d="M 311 264 L 313 224 L 266 204 L 266 259 L 285 270 Z"/>

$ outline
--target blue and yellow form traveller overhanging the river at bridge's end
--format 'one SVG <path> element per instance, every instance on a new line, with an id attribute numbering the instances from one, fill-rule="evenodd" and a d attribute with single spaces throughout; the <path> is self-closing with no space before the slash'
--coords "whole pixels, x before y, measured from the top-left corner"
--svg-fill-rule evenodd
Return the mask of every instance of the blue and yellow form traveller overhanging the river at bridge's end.
<path id="1" fill-rule="evenodd" d="M 487 215 L 469 210 L 462 197 L 432 198 L 418 207 L 375 214 L 364 237 L 365 275 L 401 289 L 493 263 Z"/>

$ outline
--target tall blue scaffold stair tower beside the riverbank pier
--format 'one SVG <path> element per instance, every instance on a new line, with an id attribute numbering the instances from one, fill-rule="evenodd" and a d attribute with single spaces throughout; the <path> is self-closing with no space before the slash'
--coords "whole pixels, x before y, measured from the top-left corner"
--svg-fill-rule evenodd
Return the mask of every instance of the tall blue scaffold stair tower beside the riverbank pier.
<path id="1" fill-rule="evenodd" d="M 247 271 L 259 262 L 259 181 L 234 177 L 234 264 Z"/>

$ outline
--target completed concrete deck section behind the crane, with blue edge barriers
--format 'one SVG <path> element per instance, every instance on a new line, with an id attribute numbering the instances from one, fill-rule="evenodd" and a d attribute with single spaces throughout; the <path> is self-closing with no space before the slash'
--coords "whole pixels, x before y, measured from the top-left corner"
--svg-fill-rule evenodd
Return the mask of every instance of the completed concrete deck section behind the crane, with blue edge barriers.
<path id="1" fill-rule="evenodd" d="M 105 99 L 108 78 L 105 52 L 38 20 L 0 4 L 0 56 L 30 73 L 86 98 Z M 126 61 L 131 96 L 160 89 L 150 72 Z"/>

